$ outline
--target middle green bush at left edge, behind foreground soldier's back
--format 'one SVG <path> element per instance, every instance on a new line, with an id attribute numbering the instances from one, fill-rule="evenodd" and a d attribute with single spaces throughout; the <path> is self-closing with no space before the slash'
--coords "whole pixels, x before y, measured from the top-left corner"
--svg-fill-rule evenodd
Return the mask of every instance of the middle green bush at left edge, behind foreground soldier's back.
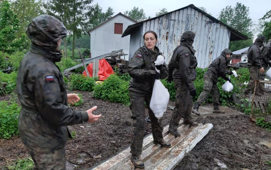
<path id="1" fill-rule="evenodd" d="M 0 95 L 11 93 L 16 88 L 17 73 L 0 72 Z"/>

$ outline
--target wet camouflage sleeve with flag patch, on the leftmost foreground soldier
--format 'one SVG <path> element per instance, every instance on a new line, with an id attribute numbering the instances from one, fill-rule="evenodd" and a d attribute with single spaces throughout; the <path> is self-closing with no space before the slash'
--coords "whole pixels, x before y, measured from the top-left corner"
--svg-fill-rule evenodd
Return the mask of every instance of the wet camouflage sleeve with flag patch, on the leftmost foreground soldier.
<path id="1" fill-rule="evenodd" d="M 53 73 L 43 72 L 37 75 L 34 88 L 35 103 L 39 113 L 48 122 L 59 126 L 87 122 L 87 112 L 76 111 L 63 104 L 59 80 Z"/>

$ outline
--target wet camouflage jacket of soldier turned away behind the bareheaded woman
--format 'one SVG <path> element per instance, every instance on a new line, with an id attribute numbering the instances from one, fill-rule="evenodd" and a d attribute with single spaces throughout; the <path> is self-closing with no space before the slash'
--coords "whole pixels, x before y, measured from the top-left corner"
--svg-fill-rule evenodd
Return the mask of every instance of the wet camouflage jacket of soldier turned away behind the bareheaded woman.
<path id="1" fill-rule="evenodd" d="M 172 77 L 181 79 L 186 84 L 189 91 L 195 89 L 194 82 L 196 80 L 197 59 L 194 56 L 195 50 L 187 45 L 181 45 L 175 48 L 168 69 L 172 70 Z M 182 74 L 181 74 L 182 73 Z"/>

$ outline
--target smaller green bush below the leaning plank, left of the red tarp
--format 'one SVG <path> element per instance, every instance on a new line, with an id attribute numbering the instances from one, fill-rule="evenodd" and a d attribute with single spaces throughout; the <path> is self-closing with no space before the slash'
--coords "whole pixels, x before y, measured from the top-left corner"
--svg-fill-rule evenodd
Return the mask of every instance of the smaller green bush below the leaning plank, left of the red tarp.
<path id="1" fill-rule="evenodd" d="M 73 90 L 93 91 L 95 80 L 83 75 L 71 75 L 71 88 Z"/>

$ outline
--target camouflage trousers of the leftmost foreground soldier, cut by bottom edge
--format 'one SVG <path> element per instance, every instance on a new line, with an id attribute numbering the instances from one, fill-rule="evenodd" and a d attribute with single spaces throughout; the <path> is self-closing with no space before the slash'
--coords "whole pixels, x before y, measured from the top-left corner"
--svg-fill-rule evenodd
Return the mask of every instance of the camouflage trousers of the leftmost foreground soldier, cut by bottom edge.
<path id="1" fill-rule="evenodd" d="M 65 150 L 56 149 L 41 155 L 31 155 L 34 162 L 33 170 L 65 170 Z"/>

